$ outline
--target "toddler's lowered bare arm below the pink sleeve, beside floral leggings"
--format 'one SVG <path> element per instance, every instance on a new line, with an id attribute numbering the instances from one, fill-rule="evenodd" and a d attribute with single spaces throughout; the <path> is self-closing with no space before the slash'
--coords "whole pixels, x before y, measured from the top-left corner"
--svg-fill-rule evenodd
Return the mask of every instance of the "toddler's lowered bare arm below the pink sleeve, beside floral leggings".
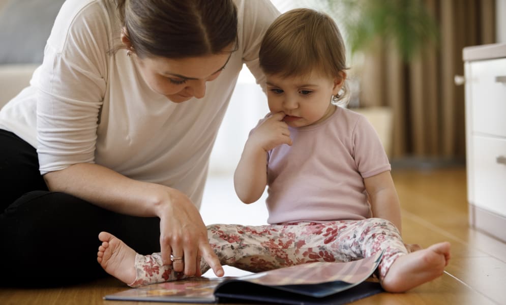
<path id="1" fill-rule="evenodd" d="M 402 234 L 401 207 L 390 171 L 365 178 L 364 184 L 371 201 L 373 217 L 392 222 Z"/>

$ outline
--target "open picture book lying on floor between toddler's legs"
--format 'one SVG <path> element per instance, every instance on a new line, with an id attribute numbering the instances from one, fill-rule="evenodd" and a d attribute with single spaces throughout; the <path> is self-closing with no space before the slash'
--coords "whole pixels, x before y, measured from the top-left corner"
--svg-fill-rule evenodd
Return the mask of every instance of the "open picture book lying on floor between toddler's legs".
<path id="1" fill-rule="evenodd" d="M 314 262 L 235 278 L 191 278 L 132 288 L 106 295 L 106 300 L 157 302 L 266 302 L 280 304 L 345 304 L 382 292 L 366 281 L 382 253 L 361 260 Z"/>

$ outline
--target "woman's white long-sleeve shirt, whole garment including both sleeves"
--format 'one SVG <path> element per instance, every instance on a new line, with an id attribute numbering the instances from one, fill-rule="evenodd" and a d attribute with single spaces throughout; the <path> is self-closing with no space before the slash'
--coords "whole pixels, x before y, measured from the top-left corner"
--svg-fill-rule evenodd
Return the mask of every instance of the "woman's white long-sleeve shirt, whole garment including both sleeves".
<path id="1" fill-rule="evenodd" d="M 154 92 L 121 46 L 112 0 L 67 0 L 31 85 L 0 111 L 0 128 L 37 148 L 41 174 L 96 163 L 170 186 L 200 205 L 209 156 L 245 63 L 264 86 L 258 50 L 279 15 L 268 0 L 235 0 L 239 49 L 205 97 L 176 104 Z"/>

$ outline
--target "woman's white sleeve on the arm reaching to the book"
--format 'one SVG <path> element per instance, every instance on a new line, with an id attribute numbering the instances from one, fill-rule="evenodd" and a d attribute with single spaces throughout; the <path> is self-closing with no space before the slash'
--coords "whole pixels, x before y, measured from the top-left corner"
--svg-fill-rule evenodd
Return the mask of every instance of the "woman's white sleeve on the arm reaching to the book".
<path id="1" fill-rule="evenodd" d="M 44 50 L 37 94 L 40 172 L 93 163 L 106 90 L 107 18 L 97 2 L 64 4 Z"/>

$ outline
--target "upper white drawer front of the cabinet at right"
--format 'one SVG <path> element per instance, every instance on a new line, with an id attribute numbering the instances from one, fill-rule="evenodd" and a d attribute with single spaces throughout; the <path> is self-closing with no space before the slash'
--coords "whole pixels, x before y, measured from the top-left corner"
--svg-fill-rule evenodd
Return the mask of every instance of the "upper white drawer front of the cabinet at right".
<path id="1" fill-rule="evenodd" d="M 506 137 L 506 58 L 467 65 L 470 131 Z"/>

